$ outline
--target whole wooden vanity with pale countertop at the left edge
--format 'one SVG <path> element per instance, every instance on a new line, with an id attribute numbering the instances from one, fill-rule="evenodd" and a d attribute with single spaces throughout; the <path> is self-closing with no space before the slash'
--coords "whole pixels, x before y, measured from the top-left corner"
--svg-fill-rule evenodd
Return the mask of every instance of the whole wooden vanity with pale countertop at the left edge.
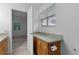
<path id="1" fill-rule="evenodd" d="M 8 54 L 8 35 L 0 34 L 0 55 Z"/>

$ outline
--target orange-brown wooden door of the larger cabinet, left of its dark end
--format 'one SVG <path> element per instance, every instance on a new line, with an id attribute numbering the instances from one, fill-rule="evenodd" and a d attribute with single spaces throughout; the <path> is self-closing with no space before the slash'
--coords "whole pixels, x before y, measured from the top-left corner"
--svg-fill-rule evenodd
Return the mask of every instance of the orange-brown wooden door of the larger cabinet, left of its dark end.
<path id="1" fill-rule="evenodd" d="M 37 54 L 38 55 L 48 54 L 48 44 L 41 39 L 37 39 Z"/>

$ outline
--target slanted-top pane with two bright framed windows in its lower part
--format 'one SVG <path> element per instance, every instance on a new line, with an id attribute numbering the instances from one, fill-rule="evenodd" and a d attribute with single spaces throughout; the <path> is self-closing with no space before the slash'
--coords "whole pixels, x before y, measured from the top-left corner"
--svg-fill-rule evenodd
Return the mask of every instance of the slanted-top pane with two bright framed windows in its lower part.
<path id="1" fill-rule="evenodd" d="M 55 4 L 40 13 L 42 26 L 56 26 Z"/>

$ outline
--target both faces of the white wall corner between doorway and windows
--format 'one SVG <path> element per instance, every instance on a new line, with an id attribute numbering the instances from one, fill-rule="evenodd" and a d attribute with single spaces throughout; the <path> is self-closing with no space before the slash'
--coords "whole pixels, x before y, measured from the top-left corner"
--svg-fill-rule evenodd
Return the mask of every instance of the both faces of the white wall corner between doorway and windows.
<path id="1" fill-rule="evenodd" d="M 27 11 L 27 47 L 33 54 L 33 35 L 31 33 L 38 32 L 39 23 L 39 7 L 42 4 L 33 4 Z"/>

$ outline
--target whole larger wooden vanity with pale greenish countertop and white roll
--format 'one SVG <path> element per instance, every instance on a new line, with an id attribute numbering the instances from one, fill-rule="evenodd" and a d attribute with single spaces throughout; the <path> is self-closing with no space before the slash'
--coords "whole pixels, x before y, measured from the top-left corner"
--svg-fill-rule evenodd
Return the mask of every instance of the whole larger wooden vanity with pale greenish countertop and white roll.
<path id="1" fill-rule="evenodd" d="M 62 35 L 33 33 L 34 53 L 37 55 L 60 55 Z"/>

